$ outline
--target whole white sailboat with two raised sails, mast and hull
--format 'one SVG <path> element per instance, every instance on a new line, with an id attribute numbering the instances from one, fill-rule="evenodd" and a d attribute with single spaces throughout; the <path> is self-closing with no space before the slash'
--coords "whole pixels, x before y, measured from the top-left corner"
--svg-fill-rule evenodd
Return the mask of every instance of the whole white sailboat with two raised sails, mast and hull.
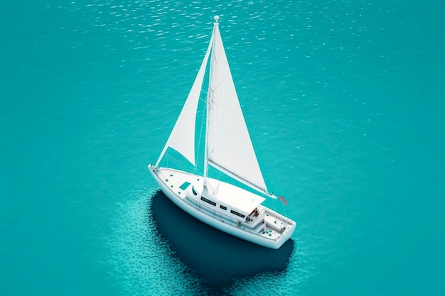
<path id="1" fill-rule="evenodd" d="M 198 75 L 155 165 L 149 171 L 161 190 L 178 207 L 210 226 L 267 248 L 279 248 L 290 239 L 296 223 L 262 205 L 265 197 L 277 198 L 267 190 L 249 132 L 242 115 L 235 84 L 214 17 L 213 33 Z M 210 59 L 210 62 L 209 62 Z M 208 72 L 206 72 L 208 71 Z M 207 75 L 205 75 L 207 73 Z M 204 95 L 203 82 L 208 77 Z M 198 172 L 199 135 L 195 134 L 200 97 L 205 100 L 205 141 L 202 173 Z M 161 167 L 171 149 L 193 165 L 186 169 Z M 208 175 L 209 166 L 256 190 Z"/>

